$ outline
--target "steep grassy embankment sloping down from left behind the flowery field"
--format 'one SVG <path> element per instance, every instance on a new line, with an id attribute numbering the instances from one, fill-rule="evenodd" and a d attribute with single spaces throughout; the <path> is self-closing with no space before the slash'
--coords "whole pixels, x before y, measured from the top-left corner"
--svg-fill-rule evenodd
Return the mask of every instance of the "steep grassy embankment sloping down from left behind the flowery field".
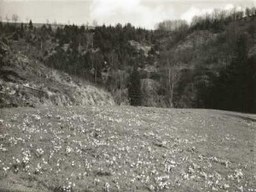
<path id="1" fill-rule="evenodd" d="M 0 44 L 0 108 L 114 104 L 110 93 Z"/>

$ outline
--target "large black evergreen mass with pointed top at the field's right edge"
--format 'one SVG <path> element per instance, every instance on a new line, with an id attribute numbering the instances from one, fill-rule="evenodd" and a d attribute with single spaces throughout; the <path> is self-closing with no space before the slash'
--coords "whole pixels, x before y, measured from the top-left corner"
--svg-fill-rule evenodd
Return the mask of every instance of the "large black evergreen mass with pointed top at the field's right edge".
<path id="1" fill-rule="evenodd" d="M 213 80 L 207 91 L 207 108 L 252 112 L 253 105 L 253 60 L 248 60 L 248 38 L 245 34 L 237 41 L 236 58 Z"/>

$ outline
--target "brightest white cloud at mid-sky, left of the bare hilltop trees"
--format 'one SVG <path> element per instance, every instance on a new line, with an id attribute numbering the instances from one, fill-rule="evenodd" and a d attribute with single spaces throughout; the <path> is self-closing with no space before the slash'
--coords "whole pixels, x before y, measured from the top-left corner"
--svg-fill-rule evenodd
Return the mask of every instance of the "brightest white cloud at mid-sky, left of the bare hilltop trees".
<path id="1" fill-rule="evenodd" d="M 155 23 L 173 17 L 172 8 L 164 9 L 164 4 L 152 8 L 141 0 L 95 0 L 90 18 L 99 24 L 132 23 L 136 27 L 154 28 Z"/>

